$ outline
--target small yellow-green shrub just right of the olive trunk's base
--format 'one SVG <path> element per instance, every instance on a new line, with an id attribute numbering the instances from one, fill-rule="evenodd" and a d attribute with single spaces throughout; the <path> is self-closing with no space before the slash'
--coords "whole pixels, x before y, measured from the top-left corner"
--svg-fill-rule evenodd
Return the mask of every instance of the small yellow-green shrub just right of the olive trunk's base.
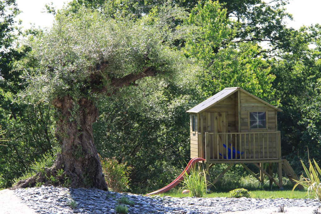
<path id="1" fill-rule="evenodd" d="M 132 167 L 127 166 L 127 162 L 118 163 L 115 157 L 104 158 L 101 159 L 101 167 L 110 190 L 125 192 L 129 188 L 129 172 Z"/>

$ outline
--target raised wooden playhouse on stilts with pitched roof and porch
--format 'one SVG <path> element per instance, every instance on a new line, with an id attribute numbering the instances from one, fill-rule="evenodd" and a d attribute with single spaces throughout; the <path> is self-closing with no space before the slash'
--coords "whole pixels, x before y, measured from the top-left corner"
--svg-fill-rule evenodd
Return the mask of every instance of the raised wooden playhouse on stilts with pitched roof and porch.
<path id="1" fill-rule="evenodd" d="M 190 113 L 191 158 L 204 158 L 207 170 L 213 164 L 230 164 L 212 184 L 234 164 L 241 164 L 262 183 L 266 175 L 270 184 L 274 182 L 280 188 L 283 169 L 294 183 L 292 179 L 298 180 L 298 177 L 288 161 L 281 158 L 278 111 L 282 110 L 239 87 L 221 90 L 187 111 Z M 260 175 L 245 164 L 254 164 Z M 277 166 L 278 182 L 273 179 L 273 164 Z"/>

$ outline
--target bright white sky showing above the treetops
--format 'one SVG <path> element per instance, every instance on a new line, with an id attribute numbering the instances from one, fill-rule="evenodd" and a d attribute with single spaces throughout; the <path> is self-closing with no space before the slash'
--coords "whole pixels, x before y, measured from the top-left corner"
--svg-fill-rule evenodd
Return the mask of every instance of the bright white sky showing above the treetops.
<path id="1" fill-rule="evenodd" d="M 267 0 L 268 1 L 268 0 Z M 29 28 L 30 22 L 34 23 L 36 27 L 42 28 L 51 26 L 53 22 L 53 15 L 48 13 L 41 13 L 44 11 L 46 3 L 53 2 L 58 9 L 62 8 L 64 2 L 70 0 L 16 0 L 18 7 L 22 13 L 17 17 L 21 19 L 22 26 Z M 320 0 L 290 0 L 287 6 L 287 11 L 293 14 L 294 21 L 289 21 L 288 26 L 298 29 L 302 25 L 311 25 L 321 23 L 321 1 Z"/>

